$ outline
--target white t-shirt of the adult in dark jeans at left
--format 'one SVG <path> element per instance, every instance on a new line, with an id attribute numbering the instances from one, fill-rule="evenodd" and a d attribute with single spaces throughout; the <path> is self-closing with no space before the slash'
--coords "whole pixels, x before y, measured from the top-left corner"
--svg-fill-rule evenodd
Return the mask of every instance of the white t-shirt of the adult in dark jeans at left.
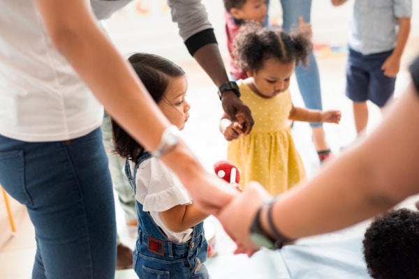
<path id="1" fill-rule="evenodd" d="M 0 134 L 71 140 L 102 119 L 102 105 L 55 49 L 34 1 L 0 1 Z"/>

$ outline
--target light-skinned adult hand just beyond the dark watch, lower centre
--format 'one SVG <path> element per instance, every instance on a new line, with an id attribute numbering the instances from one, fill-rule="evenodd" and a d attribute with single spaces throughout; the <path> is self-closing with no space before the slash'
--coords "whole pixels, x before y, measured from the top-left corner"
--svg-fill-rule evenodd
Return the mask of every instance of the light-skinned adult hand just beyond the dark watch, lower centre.
<path id="1" fill-rule="evenodd" d="M 216 214 L 227 234 L 237 244 L 235 254 L 247 253 L 251 256 L 259 250 L 251 241 L 249 232 L 256 211 L 268 199 L 270 195 L 259 183 L 250 182 L 242 194 L 237 195 Z"/>

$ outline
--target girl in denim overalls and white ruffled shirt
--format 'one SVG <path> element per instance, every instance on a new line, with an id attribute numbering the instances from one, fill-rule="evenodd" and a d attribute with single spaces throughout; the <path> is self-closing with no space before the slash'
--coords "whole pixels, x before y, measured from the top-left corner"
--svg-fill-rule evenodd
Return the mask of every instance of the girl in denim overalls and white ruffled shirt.
<path id="1" fill-rule="evenodd" d="M 128 61 L 163 114 L 182 130 L 190 109 L 185 100 L 184 70 L 153 54 L 133 54 Z M 186 188 L 161 160 L 113 120 L 112 134 L 115 151 L 126 158 L 125 172 L 135 190 L 135 273 L 140 278 L 210 278 L 204 265 L 207 241 L 203 220 L 208 214 L 196 209 Z"/>

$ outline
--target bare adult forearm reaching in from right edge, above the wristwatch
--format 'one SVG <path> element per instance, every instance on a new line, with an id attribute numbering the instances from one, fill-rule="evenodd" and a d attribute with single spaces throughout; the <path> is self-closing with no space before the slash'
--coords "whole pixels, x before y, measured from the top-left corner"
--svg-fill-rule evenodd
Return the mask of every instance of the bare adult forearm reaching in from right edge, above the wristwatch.
<path id="1" fill-rule="evenodd" d="M 418 108 L 410 86 L 369 137 L 274 206 L 277 228 L 291 238 L 330 232 L 418 193 Z"/>

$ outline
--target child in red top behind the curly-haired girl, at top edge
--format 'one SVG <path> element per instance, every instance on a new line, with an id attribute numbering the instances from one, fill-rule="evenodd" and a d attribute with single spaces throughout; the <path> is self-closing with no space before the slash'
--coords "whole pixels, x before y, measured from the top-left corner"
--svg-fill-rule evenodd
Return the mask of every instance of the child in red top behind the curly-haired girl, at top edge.
<path id="1" fill-rule="evenodd" d="M 227 48 L 230 53 L 230 80 L 244 80 L 247 75 L 233 62 L 233 41 L 242 24 L 255 21 L 262 24 L 267 15 L 267 6 L 265 0 L 223 0 Z"/>

